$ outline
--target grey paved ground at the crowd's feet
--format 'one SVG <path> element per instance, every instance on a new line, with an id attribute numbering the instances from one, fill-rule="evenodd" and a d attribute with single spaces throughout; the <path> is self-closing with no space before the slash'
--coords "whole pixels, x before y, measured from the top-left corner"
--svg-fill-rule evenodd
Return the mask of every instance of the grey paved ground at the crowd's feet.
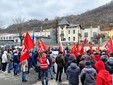
<path id="1" fill-rule="evenodd" d="M 55 75 L 54 75 L 55 76 Z M 0 72 L 0 85 L 41 85 L 41 81 L 37 80 L 37 73 L 31 72 L 27 75 L 28 82 L 21 82 L 21 74 L 13 76 L 13 73 L 2 73 Z M 63 82 L 56 82 L 55 79 L 49 79 L 49 85 L 68 85 L 68 81 L 63 76 Z"/>

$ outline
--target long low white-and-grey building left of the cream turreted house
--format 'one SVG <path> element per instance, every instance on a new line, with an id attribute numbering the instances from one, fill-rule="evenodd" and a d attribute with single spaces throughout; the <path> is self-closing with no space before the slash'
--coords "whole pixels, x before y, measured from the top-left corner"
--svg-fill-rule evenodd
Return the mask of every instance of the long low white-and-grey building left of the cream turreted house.
<path id="1" fill-rule="evenodd" d="M 24 36 L 25 33 L 23 33 L 22 36 Z M 44 39 L 44 40 L 46 40 L 45 42 L 48 42 L 49 41 L 48 44 L 54 44 L 54 43 L 56 43 L 55 30 L 53 30 L 53 29 L 43 30 L 43 31 L 39 31 L 39 32 L 37 32 L 37 31 L 34 31 L 34 32 L 33 31 L 29 31 L 29 34 L 30 34 L 31 38 L 34 35 L 34 43 L 35 44 L 37 44 L 37 38 L 41 38 L 41 37 L 43 39 L 45 38 Z M 18 33 L 13 33 L 13 34 L 3 33 L 3 34 L 0 34 L 0 40 L 1 41 L 13 41 L 17 45 L 20 45 L 20 38 L 19 38 Z"/>

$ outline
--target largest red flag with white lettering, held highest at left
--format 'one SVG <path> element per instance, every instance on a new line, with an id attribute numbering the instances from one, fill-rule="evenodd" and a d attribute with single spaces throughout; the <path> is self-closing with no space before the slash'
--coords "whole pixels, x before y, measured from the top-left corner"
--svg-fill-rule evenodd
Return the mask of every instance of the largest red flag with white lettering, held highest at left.
<path id="1" fill-rule="evenodd" d="M 21 56 L 20 56 L 20 62 L 26 60 L 29 58 L 29 50 L 35 46 L 34 42 L 32 41 L 30 35 L 28 32 L 25 35 Z"/>

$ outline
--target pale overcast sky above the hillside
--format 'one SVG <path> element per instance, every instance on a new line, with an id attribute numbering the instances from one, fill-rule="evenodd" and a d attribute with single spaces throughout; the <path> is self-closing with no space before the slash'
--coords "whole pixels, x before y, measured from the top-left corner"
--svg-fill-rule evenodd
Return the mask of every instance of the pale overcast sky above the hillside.
<path id="1" fill-rule="evenodd" d="M 12 18 L 25 20 L 81 14 L 111 0 L 0 0 L 0 26 L 13 24 Z"/>

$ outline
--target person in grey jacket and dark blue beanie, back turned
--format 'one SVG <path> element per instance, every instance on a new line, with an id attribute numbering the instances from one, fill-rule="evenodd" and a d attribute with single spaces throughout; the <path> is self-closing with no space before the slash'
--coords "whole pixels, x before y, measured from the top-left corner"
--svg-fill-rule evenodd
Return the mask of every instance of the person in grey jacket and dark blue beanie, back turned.
<path id="1" fill-rule="evenodd" d="M 95 85 L 96 73 L 96 70 L 91 66 L 91 62 L 86 61 L 86 66 L 82 69 L 80 74 L 82 85 Z"/>

